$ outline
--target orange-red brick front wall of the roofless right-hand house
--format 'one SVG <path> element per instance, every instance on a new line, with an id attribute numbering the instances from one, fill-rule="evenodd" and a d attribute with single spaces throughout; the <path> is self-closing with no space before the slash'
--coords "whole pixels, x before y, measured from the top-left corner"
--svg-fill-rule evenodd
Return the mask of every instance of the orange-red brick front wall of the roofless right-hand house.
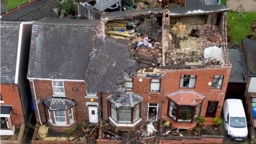
<path id="1" fill-rule="evenodd" d="M 180 77 L 181 75 L 196 75 L 196 84 L 195 89 L 179 89 L 180 85 Z M 212 83 L 214 75 L 224 75 L 222 89 L 221 90 L 211 90 L 211 86 L 208 85 L 209 82 Z M 163 106 L 163 118 L 166 119 L 167 116 L 167 107 L 168 107 L 168 98 L 166 97 L 167 94 L 177 92 L 179 90 L 190 90 L 196 91 L 200 94 L 205 95 L 206 99 L 203 101 L 202 109 L 201 109 L 201 116 L 205 116 L 207 102 L 209 100 L 212 101 L 219 101 L 218 107 L 221 106 L 224 102 L 226 89 L 228 85 L 228 79 L 230 75 L 229 68 L 207 68 L 207 69 L 193 69 L 193 70 L 176 70 L 172 71 L 169 74 L 164 75 L 163 79 L 165 78 L 164 85 L 164 106 Z M 163 86 L 162 85 L 162 86 Z M 223 93 L 223 94 L 222 94 Z M 220 116 L 221 110 L 217 109 L 215 116 Z M 213 118 L 207 118 L 208 121 L 213 120 Z M 206 122 L 207 124 L 207 122 Z M 210 123 L 209 123 L 210 124 Z M 212 124 L 212 123 L 211 123 Z"/>

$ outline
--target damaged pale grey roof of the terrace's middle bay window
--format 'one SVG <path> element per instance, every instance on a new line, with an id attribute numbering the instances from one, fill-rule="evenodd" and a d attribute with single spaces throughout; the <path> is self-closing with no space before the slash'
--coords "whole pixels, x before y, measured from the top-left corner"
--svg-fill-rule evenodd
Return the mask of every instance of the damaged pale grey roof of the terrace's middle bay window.
<path id="1" fill-rule="evenodd" d="M 134 107 L 143 101 L 143 97 L 134 93 L 126 93 L 121 95 L 111 94 L 107 100 L 118 107 Z"/>

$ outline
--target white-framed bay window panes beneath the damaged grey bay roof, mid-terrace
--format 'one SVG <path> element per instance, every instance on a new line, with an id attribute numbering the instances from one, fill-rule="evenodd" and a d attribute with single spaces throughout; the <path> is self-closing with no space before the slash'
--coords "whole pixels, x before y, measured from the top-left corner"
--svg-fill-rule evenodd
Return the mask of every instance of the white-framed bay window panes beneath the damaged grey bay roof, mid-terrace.
<path id="1" fill-rule="evenodd" d="M 117 123 L 134 123 L 140 118 L 140 103 L 134 107 L 119 107 L 110 103 L 110 117 Z"/>

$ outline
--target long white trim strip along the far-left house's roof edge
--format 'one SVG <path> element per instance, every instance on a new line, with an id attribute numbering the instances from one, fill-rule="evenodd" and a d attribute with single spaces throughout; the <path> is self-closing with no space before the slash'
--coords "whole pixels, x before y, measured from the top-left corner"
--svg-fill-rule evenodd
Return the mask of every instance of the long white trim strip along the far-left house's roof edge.
<path id="1" fill-rule="evenodd" d="M 15 70 L 15 81 L 14 81 L 15 84 L 18 84 L 18 77 L 19 77 L 22 31 L 23 31 L 23 24 L 20 23 L 19 40 L 18 40 L 18 51 L 17 51 L 17 61 L 16 61 L 16 70 Z"/>

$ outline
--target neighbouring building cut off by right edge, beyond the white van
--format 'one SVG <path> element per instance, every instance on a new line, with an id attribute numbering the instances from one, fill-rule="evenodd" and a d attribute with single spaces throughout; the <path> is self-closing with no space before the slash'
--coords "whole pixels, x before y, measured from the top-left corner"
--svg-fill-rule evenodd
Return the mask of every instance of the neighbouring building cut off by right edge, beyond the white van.
<path id="1" fill-rule="evenodd" d="M 244 93 L 244 107 L 247 113 L 246 118 L 249 127 L 249 134 L 251 136 L 251 140 L 255 140 L 255 123 L 256 123 L 256 115 L 255 108 L 256 107 L 256 65 L 254 53 L 256 49 L 256 39 L 244 38 L 242 39 L 242 52 L 245 58 L 245 71 L 247 84 L 245 87 Z M 253 111 L 252 111 L 253 110 Z M 254 141 L 255 142 L 255 141 Z"/>

